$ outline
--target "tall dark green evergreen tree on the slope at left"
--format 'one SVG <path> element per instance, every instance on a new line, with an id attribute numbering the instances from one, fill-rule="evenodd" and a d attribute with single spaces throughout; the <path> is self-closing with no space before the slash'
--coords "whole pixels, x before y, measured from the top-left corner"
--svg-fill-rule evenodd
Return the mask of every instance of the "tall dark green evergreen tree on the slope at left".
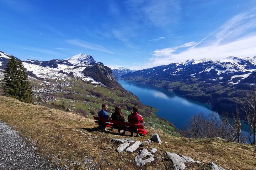
<path id="1" fill-rule="evenodd" d="M 11 56 L 7 63 L 3 82 L 7 96 L 26 103 L 32 102 L 32 89 L 21 60 L 16 61 L 15 57 Z"/>

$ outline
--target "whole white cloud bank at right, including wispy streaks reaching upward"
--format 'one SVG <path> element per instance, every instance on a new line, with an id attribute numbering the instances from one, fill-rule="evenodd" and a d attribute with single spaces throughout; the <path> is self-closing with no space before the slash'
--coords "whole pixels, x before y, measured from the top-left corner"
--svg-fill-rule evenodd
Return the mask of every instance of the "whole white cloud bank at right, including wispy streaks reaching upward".
<path id="1" fill-rule="evenodd" d="M 176 47 L 157 49 L 152 52 L 149 61 L 139 67 L 143 69 L 202 58 L 254 57 L 256 55 L 256 8 L 235 15 L 214 32 L 199 42 L 191 41 Z"/>

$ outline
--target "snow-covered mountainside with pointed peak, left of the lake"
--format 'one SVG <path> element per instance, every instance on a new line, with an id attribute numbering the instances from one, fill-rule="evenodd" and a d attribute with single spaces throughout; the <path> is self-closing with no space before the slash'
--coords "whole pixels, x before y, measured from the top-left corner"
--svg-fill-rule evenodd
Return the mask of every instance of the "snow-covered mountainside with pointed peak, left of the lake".
<path id="1" fill-rule="evenodd" d="M 11 56 L 0 51 L 0 72 L 4 71 L 6 64 Z M 18 60 L 18 59 L 17 59 Z M 23 66 L 26 68 L 29 75 L 33 75 L 37 78 L 44 79 L 70 79 L 69 76 L 82 79 L 84 81 L 90 81 L 93 84 L 101 84 L 104 85 L 105 82 L 103 80 L 110 79 L 109 81 L 115 81 L 113 78 L 113 73 L 111 69 L 107 69 L 103 72 L 102 69 L 99 69 L 103 72 L 101 76 L 95 76 L 95 78 L 90 77 L 90 75 L 85 75 L 82 73 L 85 68 L 87 68 L 87 72 L 92 69 L 91 66 L 104 66 L 101 62 L 96 62 L 91 55 L 83 55 L 82 53 L 70 57 L 66 60 L 53 59 L 50 61 L 38 61 L 38 60 L 24 60 Z M 89 67 L 89 68 L 88 68 Z M 106 66 L 104 66 L 106 67 Z M 95 67 L 94 67 L 95 69 Z M 108 72 L 108 73 L 107 73 Z M 102 77 L 110 75 L 109 77 Z M 95 79 L 99 80 L 96 81 Z M 113 79 L 113 80 L 112 80 Z M 102 81 L 101 81 L 102 80 Z M 108 84 L 111 84 L 107 81 Z"/>

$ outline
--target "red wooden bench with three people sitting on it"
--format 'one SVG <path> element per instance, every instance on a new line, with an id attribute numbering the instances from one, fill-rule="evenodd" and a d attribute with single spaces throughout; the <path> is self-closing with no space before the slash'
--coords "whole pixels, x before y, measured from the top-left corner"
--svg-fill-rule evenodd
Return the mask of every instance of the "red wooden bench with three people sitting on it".
<path id="1" fill-rule="evenodd" d="M 95 123 L 103 126 L 104 130 L 106 130 L 107 127 L 125 130 L 125 131 L 132 130 L 133 132 L 137 133 L 137 135 L 139 134 L 145 135 L 148 132 L 148 130 L 144 130 L 144 126 L 140 124 L 128 123 L 128 122 L 112 120 L 112 119 L 106 120 L 103 118 L 99 118 L 97 116 L 94 116 L 94 120 L 95 120 Z"/>

